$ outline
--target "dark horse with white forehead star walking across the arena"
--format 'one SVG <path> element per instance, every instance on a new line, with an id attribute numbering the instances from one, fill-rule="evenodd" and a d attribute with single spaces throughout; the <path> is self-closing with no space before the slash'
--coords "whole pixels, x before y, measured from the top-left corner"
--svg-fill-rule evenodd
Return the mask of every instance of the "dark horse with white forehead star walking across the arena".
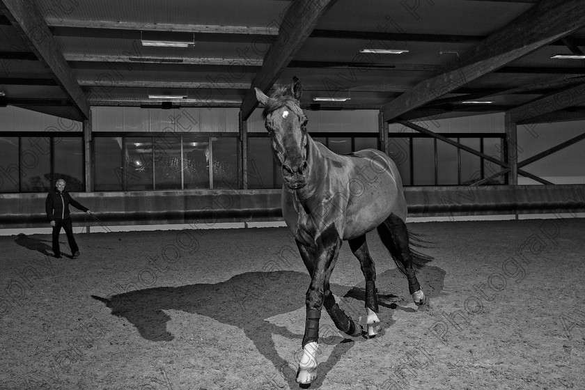
<path id="1" fill-rule="evenodd" d="M 299 107 L 302 87 L 295 77 L 269 98 L 256 88 L 264 105 L 263 117 L 270 133 L 272 151 L 283 175 L 283 217 L 311 274 L 306 292 L 303 357 L 297 382 L 309 385 L 317 378 L 319 320 L 322 306 L 336 327 L 350 336 L 366 332 L 341 310 L 329 289 L 343 240 L 347 240 L 366 278 L 367 335 L 378 331 L 375 267 L 366 233 L 377 232 L 398 269 L 407 276 L 409 292 L 418 305 L 426 297 L 414 274 L 430 260 L 410 248 L 405 225 L 407 205 L 396 164 L 380 150 L 366 149 L 337 155 L 307 133 L 307 118 Z"/>

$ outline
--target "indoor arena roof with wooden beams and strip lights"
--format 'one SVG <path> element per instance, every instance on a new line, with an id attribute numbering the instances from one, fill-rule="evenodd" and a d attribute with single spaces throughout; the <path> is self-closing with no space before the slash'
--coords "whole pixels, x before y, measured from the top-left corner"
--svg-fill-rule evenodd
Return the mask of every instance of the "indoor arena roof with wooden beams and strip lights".
<path id="1" fill-rule="evenodd" d="M 297 76 L 303 109 L 580 119 L 584 27 L 582 0 L 0 0 L 0 106 L 247 118 Z"/>

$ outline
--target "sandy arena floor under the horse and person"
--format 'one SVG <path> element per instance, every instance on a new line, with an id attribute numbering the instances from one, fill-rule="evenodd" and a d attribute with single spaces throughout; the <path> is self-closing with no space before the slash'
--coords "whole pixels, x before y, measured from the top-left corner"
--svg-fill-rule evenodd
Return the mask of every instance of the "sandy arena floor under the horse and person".
<path id="1" fill-rule="evenodd" d="M 311 389 L 585 389 L 585 219 L 409 228 L 434 242 L 430 307 L 368 234 L 382 333 L 347 339 L 324 311 Z M 0 237 L 0 389 L 298 388 L 309 276 L 286 228 L 76 237 L 77 259 Z M 347 243 L 331 285 L 363 323 Z"/>

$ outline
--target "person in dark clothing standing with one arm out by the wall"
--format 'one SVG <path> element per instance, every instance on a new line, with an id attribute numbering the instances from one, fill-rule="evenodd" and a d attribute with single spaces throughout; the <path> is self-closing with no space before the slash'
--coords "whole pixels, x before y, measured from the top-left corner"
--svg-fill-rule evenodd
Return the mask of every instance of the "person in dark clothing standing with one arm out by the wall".
<path id="1" fill-rule="evenodd" d="M 61 258 L 61 249 L 59 247 L 59 233 L 61 233 L 61 228 L 63 228 L 67 235 L 73 258 L 79 257 L 79 247 L 77 247 L 77 242 L 75 242 L 75 237 L 73 237 L 73 225 L 71 223 L 69 205 L 83 212 L 89 212 L 88 208 L 75 201 L 69 192 L 65 191 L 65 180 L 59 179 L 55 183 L 55 190 L 49 192 L 47 201 L 45 202 L 47 218 L 51 222 L 51 226 L 53 226 L 53 254 L 56 258 Z"/>

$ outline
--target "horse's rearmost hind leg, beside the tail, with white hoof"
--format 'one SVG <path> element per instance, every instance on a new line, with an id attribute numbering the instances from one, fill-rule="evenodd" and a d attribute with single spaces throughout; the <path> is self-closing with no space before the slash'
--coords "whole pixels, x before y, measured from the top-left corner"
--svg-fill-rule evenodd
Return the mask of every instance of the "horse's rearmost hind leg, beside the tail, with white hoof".
<path id="1" fill-rule="evenodd" d="M 413 258 L 410 252 L 408 231 L 405 222 L 395 214 L 390 214 L 384 223 L 378 226 L 377 231 L 384 242 L 384 245 L 390 251 L 398 269 L 406 275 L 408 279 L 408 290 L 414 303 L 423 305 L 427 299 L 421 285 L 414 274 Z"/>

